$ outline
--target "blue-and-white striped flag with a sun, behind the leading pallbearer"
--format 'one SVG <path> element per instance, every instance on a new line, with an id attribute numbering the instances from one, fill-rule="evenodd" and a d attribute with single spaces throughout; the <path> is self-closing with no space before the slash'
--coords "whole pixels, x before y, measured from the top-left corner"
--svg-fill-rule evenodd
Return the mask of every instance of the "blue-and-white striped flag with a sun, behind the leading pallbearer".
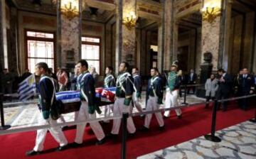
<path id="1" fill-rule="evenodd" d="M 27 100 L 36 94 L 35 74 L 30 75 L 18 84 L 18 99 Z"/>

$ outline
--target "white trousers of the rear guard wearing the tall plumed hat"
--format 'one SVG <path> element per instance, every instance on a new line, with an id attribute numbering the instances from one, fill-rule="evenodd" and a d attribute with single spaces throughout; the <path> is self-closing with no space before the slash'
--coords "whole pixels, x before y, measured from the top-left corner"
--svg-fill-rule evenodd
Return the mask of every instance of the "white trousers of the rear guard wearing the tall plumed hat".
<path id="1" fill-rule="evenodd" d="M 178 89 L 170 92 L 166 91 L 165 108 L 178 106 Z M 177 116 L 181 115 L 181 109 L 175 109 Z M 169 117 L 171 111 L 165 111 L 164 116 Z"/>

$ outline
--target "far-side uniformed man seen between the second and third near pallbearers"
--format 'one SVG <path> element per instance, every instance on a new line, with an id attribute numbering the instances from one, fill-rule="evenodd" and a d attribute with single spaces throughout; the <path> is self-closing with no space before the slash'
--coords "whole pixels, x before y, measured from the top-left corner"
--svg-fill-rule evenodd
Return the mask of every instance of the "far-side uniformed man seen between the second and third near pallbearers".
<path id="1" fill-rule="evenodd" d="M 113 67 L 107 66 L 106 70 L 105 70 L 106 77 L 104 79 L 104 87 L 105 88 L 115 87 L 115 79 L 114 79 L 114 76 L 112 75 L 112 72 L 113 72 Z M 111 111 L 113 111 L 113 104 L 106 105 L 105 112 L 104 112 L 105 117 L 110 116 Z M 104 122 L 109 123 L 110 121 L 105 120 Z"/>

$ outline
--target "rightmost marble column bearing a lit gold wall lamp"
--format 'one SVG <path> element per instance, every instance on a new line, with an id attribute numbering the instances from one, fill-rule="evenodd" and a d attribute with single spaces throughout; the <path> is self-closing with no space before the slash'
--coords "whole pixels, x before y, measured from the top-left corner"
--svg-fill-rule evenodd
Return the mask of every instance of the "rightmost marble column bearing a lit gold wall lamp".
<path id="1" fill-rule="evenodd" d="M 205 0 L 204 5 L 208 6 L 213 0 Z M 221 16 L 215 18 L 213 22 L 204 20 L 202 22 L 202 56 L 203 53 L 210 52 L 213 55 L 213 70 L 218 68 L 228 69 L 228 45 L 229 45 L 229 26 L 231 18 L 231 6 L 229 0 L 214 1 L 215 6 L 221 8 Z"/>

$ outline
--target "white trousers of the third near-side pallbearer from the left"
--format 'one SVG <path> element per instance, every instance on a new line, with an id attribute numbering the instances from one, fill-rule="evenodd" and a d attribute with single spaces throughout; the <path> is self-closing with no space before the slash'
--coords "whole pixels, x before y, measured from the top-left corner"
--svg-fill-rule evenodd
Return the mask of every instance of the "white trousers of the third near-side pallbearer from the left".
<path id="1" fill-rule="evenodd" d="M 124 98 L 118 98 L 114 101 L 114 116 L 122 116 L 122 113 L 129 113 L 131 114 L 131 106 L 124 105 Z M 113 127 L 112 127 L 112 134 L 118 134 L 119 133 L 119 128 L 121 125 L 121 119 L 114 119 L 113 120 Z M 132 121 L 132 117 L 129 116 L 127 119 L 127 130 L 129 133 L 135 133 L 136 128 L 134 126 L 134 122 Z"/>

